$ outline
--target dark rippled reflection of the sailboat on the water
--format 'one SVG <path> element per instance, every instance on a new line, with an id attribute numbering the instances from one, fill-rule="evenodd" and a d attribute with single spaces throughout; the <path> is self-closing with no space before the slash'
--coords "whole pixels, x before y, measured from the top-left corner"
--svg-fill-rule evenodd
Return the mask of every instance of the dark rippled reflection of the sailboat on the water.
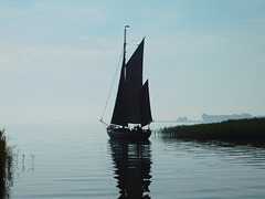
<path id="1" fill-rule="evenodd" d="M 150 198 L 151 148 L 150 142 L 129 143 L 109 140 L 119 198 Z"/>

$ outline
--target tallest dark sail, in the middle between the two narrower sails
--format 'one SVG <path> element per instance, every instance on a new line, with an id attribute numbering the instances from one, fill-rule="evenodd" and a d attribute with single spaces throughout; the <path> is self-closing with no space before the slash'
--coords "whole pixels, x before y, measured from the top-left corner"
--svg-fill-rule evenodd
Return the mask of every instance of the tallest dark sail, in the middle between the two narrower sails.
<path id="1" fill-rule="evenodd" d="M 144 42 L 145 39 L 126 64 L 126 116 L 127 122 L 132 124 L 141 123 L 139 93 L 142 86 Z"/>

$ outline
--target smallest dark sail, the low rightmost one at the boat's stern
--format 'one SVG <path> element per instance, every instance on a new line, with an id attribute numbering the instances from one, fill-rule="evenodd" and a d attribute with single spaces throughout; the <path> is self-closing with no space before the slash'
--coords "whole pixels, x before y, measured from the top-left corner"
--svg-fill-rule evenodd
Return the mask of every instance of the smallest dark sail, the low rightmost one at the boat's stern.
<path id="1" fill-rule="evenodd" d="M 140 114 L 141 126 L 146 126 L 152 122 L 148 80 L 146 81 L 140 91 Z"/>

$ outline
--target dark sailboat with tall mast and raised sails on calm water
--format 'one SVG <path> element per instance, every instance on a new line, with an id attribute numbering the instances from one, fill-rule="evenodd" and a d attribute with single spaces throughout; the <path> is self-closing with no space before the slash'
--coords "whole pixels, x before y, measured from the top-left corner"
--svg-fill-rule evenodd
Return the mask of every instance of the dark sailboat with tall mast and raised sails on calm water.
<path id="1" fill-rule="evenodd" d="M 126 29 L 119 85 L 107 134 L 112 139 L 147 140 L 152 122 L 148 80 L 142 84 L 145 38 L 126 62 Z M 132 127 L 131 127 L 132 125 Z"/>

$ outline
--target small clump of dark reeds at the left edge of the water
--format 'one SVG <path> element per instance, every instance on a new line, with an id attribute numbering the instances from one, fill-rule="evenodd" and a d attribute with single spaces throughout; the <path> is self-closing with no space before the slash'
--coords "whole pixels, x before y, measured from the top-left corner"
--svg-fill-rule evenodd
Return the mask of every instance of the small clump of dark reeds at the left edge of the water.
<path id="1" fill-rule="evenodd" d="M 0 129 L 0 198 L 10 197 L 10 187 L 13 182 L 13 151 L 7 142 L 8 138 L 4 135 L 4 129 Z"/>

